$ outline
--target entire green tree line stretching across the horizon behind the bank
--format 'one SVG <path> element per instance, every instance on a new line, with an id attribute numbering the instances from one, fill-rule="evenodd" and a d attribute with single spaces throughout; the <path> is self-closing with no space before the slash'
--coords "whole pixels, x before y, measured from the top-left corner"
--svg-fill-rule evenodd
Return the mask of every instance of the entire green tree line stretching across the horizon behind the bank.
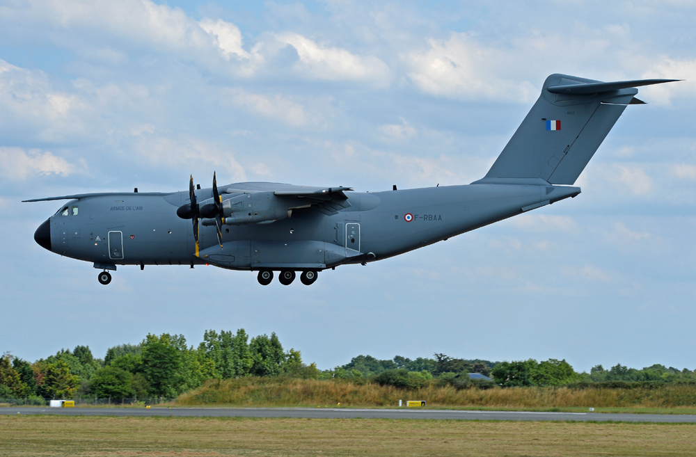
<path id="1" fill-rule="evenodd" d="M 471 380 L 479 373 L 491 380 Z M 95 358 L 89 346 L 62 349 L 48 358 L 28 362 L 5 353 L 0 358 L 0 399 L 174 398 L 209 379 L 246 376 L 314 379 L 352 379 L 396 387 L 422 387 L 429 380 L 457 388 L 556 386 L 577 383 L 647 382 L 696 383 L 696 372 L 654 364 L 633 369 L 617 364 L 596 365 L 578 373 L 565 360 L 549 359 L 491 362 L 467 360 L 435 353 L 411 360 L 400 355 L 379 360 L 358 355 L 329 370 L 305 364 L 294 348 L 285 351 L 275 333 L 250 337 L 237 332 L 207 330 L 198 347 L 187 345 L 183 335 L 148 334 L 139 344 L 121 344 Z"/>

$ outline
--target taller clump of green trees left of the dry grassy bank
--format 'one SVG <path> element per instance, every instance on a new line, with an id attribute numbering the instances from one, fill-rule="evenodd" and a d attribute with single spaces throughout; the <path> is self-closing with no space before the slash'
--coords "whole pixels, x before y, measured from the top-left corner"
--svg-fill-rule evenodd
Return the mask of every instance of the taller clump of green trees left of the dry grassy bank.
<path id="1" fill-rule="evenodd" d="M 5 353 L 0 358 L 0 399 L 174 398 L 205 380 L 242 376 L 317 377 L 315 364 L 284 351 L 275 333 L 249 339 L 244 329 L 207 330 L 197 348 L 183 335 L 148 334 L 140 344 L 121 344 L 94 358 L 89 346 L 33 363 Z M 31 403 L 31 402 L 30 402 Z"/>

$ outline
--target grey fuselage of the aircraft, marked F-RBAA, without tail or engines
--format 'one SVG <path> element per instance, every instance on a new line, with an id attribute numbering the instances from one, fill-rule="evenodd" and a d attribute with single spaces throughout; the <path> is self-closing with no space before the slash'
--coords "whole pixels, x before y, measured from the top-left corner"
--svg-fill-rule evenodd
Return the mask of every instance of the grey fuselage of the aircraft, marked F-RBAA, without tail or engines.
<path id="1" fill-rule="evenodd" d="M 278 186 L 231 186 L 245 184 Z M 272 223 L 223 226 L 224 248 L 214 226 L 200 225 L 200 257 L 190 221 L 176 214 L 189 201 L 187 192 L 101 194 L 71 200 L 49 218 L 45 247 L 97 268 L 209 263 L 322 270 L 393 257 L 578 193 L 578 187 L 519 184 L 347 192 L 351 206 L 331 216 L 309 207 Z M 210 189 L 196 191 L 198 200 L 211 195 Z"/>

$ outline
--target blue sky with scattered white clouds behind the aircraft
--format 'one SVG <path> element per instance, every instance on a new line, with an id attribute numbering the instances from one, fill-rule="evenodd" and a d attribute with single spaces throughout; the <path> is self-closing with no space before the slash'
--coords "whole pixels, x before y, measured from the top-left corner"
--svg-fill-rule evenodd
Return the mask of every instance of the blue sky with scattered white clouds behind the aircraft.
<path id="1" fill-rule="evenodd" d="M 601 11 L 601 14 L 597 14 Z M 276 332 L 321 369 L 446 353 L 696 369 L 696 3 L 0 0 L 0 352 Z M 640 88 L 572 200 L 262 287 L 92 264 L 33 232 L 72 193 L 468 184 L 548 74 Z"/>

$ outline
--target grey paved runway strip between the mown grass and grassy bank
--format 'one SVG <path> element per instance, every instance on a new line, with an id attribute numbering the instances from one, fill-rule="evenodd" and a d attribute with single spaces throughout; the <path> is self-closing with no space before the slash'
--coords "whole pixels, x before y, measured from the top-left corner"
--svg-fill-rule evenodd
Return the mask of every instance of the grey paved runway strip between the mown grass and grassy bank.
<path id="1" fill-rule="evenodd" d="M 525 412 L 464 410 L 374 410 L 336 408 L 0 408 L 0 414 L 65 416 L 167 416 L 167 417 L 310 417 L 365 419 L 458 419 L 503 421 L 617 421 L 692 422 L 696 415 L 605 414 L 600 412 Z"/>

